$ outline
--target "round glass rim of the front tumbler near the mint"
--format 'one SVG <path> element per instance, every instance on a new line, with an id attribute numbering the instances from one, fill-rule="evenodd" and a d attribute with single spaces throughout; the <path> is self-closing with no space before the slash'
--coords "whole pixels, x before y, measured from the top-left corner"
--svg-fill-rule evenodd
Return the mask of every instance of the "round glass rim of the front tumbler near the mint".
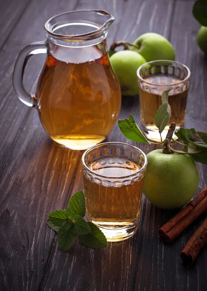
<path id="1" fill-rule="evenodd" d="M 112 177 L 112 176 L 106 176 L 106 175 L 101 175 L 101 174 L 97 174 L 95 171 L 92 171 L 91 169 L 89 169 L 89 167 L 86 165 L 85 163 L 85 155 L 87 153 L 89 153 L 93 148 L 95 147 L 98 147 L 98 146 L 107 146 L 107 145 L 110 145 L 110 144 L 116 144 L 116 145 L 125 145 L 125 146 L 130 146 L 130 147 L 133 147 L 135 148 L 136 150 L 138 150 L 144 157 L 144 163 L 143 163 L 143 166 L 142 168 L 140 168 L 137 172 L 133 173 L 133 174 L 130 174 L 130 175 L 126 175 L 126 176 L 121 176 L 121 177 Z M 91 146 L 89 147 L 83 154 L 82 154 L 82 157 L 81 157 L 81 163 L 82 163 L 82 166 L 84 168 L 87 169 L 87 171 L 89 171 L 90 173 L 92 173 L 93 175 L 96 175 L 98 177 L 102 177 L 102 178 L 111 178 L 111 179 L 123 179 L 123 178 L 131 178 L 131 177 L 134 177 L 134 176 L 137 176 L 139 173 L 143 172 L 143 170 L 146 168 L 146 165 L 147 165 L 147 157 L 145 155 L 145 153 L 137 146 L 132 146 L 132 145 L 129 145 L 129 144 L 126 144 L 126 143 L 120 143 L 120 142 L 107 142 L 107 143 L 101 143 L 101 144 L 97 144 L 95 146 Z"/>

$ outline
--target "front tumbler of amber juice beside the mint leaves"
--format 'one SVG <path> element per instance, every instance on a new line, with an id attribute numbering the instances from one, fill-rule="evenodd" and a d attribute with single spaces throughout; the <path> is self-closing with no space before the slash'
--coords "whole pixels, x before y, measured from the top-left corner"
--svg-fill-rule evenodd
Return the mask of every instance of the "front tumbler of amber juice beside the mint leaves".
<path id="1" fill-rule="evenodd" d="M 147 159 L 124 143 L 103 143 L 82 156 L 86 213 L 109 242 L 126 240 L 138 228 Z"/>

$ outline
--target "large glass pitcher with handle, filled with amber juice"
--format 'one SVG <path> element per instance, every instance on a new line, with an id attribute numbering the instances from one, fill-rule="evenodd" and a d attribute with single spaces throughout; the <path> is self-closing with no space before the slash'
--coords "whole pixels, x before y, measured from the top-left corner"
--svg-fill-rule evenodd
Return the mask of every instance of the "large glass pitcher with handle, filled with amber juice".
<path id="1" fill-rule="evenodd" d="M 100 143 L 118 118 L 121 92 L 106 42 L 113 20 L 102 10 L 54 16 L 45 24 L 47 41 L 30 44 L 16 60 L 16 95 L 37 108 L 51 139 L 67 148 L 82 150 Z M 47 59 L 31 95 L 23 86 L 23 73 L 28 59 L 38 53 L 47 53 Z"/>

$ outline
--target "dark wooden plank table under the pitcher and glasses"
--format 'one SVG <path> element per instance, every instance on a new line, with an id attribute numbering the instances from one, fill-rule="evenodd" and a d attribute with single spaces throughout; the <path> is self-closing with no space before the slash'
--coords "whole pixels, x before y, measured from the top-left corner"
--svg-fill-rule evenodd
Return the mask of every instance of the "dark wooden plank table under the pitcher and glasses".
<path id="1" fill-rule="evenodd" d="M 55 14 L 77 9 L 105 9 L 115 16 L 108 44 L 133 41 L 158 32 L 173 44 L 176 60 L 191 69 L 186 127 L 207 131 L 207 58 L 196 43 L 199 23 L 191 0 L 8 0 L 0 11 L 0 290 L 2 291 L 205 291 L 207 251 L 191 266 L 180 251 L 202 223 L 202 215 L 171 245 L 159 241 L 158 229 L 176 211 L 159 210 L 144 197 L 136 235 L 109 243 L 104 250 L 78 242 L 68 251 L 57 246 L 46 225 L 52 210 L 64 209 L 83 188 L 82 152 L 61 149 L 49 139 L 37 111 L 15 96 L 12 73 L 18 52 L 45 40 L 44 23 Z M 44 57 L 34 56 L 25 86 L 35 92 Z M 138 97 L 123 97 L 120 118 L 140 120 Z M 129 142 L 116 126 L 107 141 Z M 132 143 L 135 144 L 135 143 Z M 154 146 L 137 145 L 145 153 Z M 207 185 L 207 166 L 198 164 L 199 189 Z"/>

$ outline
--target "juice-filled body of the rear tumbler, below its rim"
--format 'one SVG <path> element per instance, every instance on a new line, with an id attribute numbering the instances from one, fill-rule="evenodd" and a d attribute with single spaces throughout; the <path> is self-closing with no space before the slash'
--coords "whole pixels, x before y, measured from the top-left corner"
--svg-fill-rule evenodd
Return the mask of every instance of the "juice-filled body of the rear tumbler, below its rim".
<path id="1" fill-rule="evenodd" d="M 176 124 L 176 129 L 184 125 L 188 84 L 185 84 L 182 79 L 174 75 L 159 73 L 147 76 L 144 78 L 145 81 L 144 86 L 139 84 L 140 112 L 143 130 L 148 139 L 160 141 L 158 128 L 155 124 L 155 115 L 159 106 L 162 104 L 162 92 L 171 89 L 168 97 L 168 102 L 171 106 L 171 118 L 162 132 L 162 138 L 164 139 L 172 122 Z M 176 138 L 175 135 L 174 138 Z"/>

